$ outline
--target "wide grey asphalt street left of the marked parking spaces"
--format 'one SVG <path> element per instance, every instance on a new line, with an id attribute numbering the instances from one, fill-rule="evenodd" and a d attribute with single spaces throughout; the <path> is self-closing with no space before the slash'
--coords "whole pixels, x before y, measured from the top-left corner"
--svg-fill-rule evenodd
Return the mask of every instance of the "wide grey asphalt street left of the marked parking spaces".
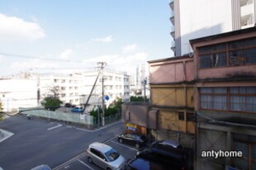
<path id="1" fill-rule="evenodd" d="M 4 170 L 28 170 L 40 164 L 58 168 L 71 158 L 83 155 L 92 142 L 114 141 L 113 138 L 125 130 L 125 125 L 116 122 L 103 129 L 90 131 L 48 120 L 27 120 L 26 116 L 18 115 L 0 122 L 0 129 L 14 133 L 0 143 L 0 167 Z M 109 143 L 114 144 L 111 141 Z M 84 158 L 79 158 L 81 162 L 78 163 L 87 163 Z"/>

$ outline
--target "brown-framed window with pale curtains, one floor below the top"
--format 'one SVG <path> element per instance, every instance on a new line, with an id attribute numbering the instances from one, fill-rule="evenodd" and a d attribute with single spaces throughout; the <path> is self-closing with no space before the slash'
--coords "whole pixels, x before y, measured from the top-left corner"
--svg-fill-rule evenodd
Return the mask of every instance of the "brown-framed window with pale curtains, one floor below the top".
<path id="1" fill-rule="evenodd" d="M 201 109 L 256 111 L 256 87 L 201 87 Z"/>

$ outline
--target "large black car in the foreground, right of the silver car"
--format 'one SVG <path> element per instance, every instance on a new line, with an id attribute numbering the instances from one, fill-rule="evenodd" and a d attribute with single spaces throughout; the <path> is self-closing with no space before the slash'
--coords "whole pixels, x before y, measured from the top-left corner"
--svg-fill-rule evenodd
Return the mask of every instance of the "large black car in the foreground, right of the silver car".
<path id="1" fill-rule="evenodd" d="M 173 140 L 159 140 L 138 152 L 136 158 L 167 164 L 169 169 L 186 169 L 187 154 L 182 145 Z"/>

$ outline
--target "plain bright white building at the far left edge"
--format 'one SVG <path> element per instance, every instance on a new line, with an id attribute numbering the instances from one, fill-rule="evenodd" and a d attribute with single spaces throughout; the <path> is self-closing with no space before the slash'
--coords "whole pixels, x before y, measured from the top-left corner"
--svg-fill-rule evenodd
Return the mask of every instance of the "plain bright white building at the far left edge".
<path id="1" fill-rule="evenodd" d="M 18 111 L 19 107 L 38 106 L 36 79 L 0 79 L 0 101 L 6 112 Z"/>

